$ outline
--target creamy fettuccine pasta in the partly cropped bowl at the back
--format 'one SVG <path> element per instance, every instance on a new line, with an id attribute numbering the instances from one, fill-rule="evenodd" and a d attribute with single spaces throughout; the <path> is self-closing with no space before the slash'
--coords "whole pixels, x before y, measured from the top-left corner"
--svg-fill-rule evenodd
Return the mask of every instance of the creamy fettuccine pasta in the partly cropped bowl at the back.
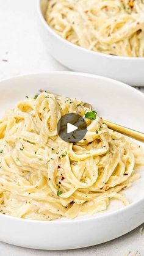
<path id="1" fill-rule="evenodd" d="M 45 18 L 57 34 L 76 45 L 144 57 L 143 0 L 49 0 Z"/>

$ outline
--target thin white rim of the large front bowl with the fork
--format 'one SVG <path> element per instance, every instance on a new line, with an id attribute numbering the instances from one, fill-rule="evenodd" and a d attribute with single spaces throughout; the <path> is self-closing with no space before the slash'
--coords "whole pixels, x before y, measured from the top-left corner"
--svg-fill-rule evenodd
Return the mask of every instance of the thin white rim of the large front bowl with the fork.
<path id="1" fill-rule="evenodd" d="M 39 0 L 38 0 L 39 1 Z M 37 79 L 37 76 L 49 76 L 49 75 L 52 75 L 52 76 L 56 76 L 56 75 L 72 75 L 72 76 L 81 76 L 81 77 L 87 77 L 87 78 L 95 78 L 95 79 L 101 79 L 101 80 L 104 80 L 104 81 L 111 81 L 111 82 L 115 82 L 115 83 L 118 83 L 119 86 L 127 89 L 127 90 L 131 90 L 131 91 L 135 91 L 135 93 L 137 93 L 137 95 L 140 95 L 140 97 L 143 97 L 144 98 L 144 94 L 142 92 L 140 92 L 139 90 L 135 89 L 134 87 L 131 87 L 129 86 L 128 84 L 124 84 L 123 82 L 120 82 L 120 81 L 117 81 L 115 79 L 112 79 L 112 78 L 106 78 L 104 76 L 98 76 L 98 75 L 93 75 L 93 74 L 89 74 L 89 73 L 81 73 L 81 72 L 74 72 L 74 71 L 49 71 L 49 72 L 41 72 L 41 73 L 29 73 L 29 74 L 25 74 L 25 75 L 18 75 L 18 76 L 12 76 L 10 78 L 6 78 L 6 79 L 1 79 L 0 80 L 0 86 L 1 86 L 1 83 L 2 82 L 11 82 L 12 80 L 15 80 L 15 79 L 23 79 L 23 78 L 28 78 L 28 77 L 31 77 L 31 76 L 35 76 L 35 79 Z M 14 83 L 13 83 L 14 84 Z M 19 217 L 15 217 L 15 216 L 10 216 L 10 215 L 5 215 L 5 214 L 0 214 L 0 219 L 1 218 L 6 218 L 6 219 L 12 219 L 13 221 L 22 221 L 22 222 L 32 222 L 33 224 L 34 223 L 43 223 L 43 224 L 49 224 L 49 225 L 60 225 L 60 224 L 65 224 L 65 223 L 68 223 L 68 224 L 73 224 L 74 222 L 90 222 L 90 221 L 96 221 L 96 220 L 99 220 L 99 219 L 105 219 L 105 218 L 110 218 L 112 217 L 113 215 L 117 216 L 119 214 L 124 214 L 124 212 L 127 212 L 127 211 L 131 211 L 131 209 L 134 207 L 136 208 L 137 206 L 139 205 L 142 205 L 144 204 L 144 197 L 142 197 L 141 199 L 137 200 L 136 202 L 132 202 L 132 203 L 129 203 L 129 205 L 126 205 L 124 206 L 123 208 L 121 209 L 118 209 L 118 210 L 113 210 L 111 211 L 110 213 L 105 213 L 105 214 L 99 214 L 96 216 L 96 214 L 88 214 L 88 215 L 84 215 L 82 217 L 82 219 L 56 219 L 54 221 L 40 221 L 40 220 L 34 220 L 34 219 L 23 219 L 23 218 L 19 218 Z M 102 212 L 103 213 L 103 212 Z"/>

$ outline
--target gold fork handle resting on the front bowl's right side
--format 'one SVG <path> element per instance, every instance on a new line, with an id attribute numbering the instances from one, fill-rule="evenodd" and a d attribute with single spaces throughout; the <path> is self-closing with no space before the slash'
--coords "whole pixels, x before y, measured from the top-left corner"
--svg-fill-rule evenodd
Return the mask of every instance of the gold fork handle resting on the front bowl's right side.
<path id="1" fill-rule="evenodd" d="M 137 141 L 144 142 L 144 133 L 141 133 L 140 131 L 135 131 L 130 128 L 117 125 L 116 123 L 112 123 L 106 120 L 103 120 L 103 122 L 107 125 L 108 128 L 112 129 L 113 131 L 117 131 L 118 133 L 122 133 L 128 137 L 132 137 Z"/>

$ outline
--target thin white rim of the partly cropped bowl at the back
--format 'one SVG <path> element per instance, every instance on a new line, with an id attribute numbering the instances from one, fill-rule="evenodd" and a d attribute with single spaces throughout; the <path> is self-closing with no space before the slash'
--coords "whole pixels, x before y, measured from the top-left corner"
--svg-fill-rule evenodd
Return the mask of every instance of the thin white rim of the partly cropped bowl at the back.
<path id="1" fill-rule="evenodd" d="M 132 61 L 144 61 L 144 57 L 127 57 L 127 56 L 115 56 L 115 55 L 110 55 L 106 53 L 100 53 L 97 51 L 92 51 L 90 49 L 84 48 L 79 45 L 75 45 L 74 43 L 69 42 L 68 40 L 64 39 L 63 37 L 60 37 L 54 30 L 49 26 L 48 23 L 46 23 L 46 20 L 43 16 L 43 13 L 41 12 L 41 0 L 37 0 L 37 12 L 38 16 L 40 18 L 41 23 L 45 26 L 45 28 L 51 33 L 54 37 L 56 37 L 57 40 L 60 40 L 62 43 L 65 43 L 66 45 L 73 47 L 79 51 L 82 51 L 83 53 L 89 53 L 92 54 L 93 56 L 99 56 L 99 57 L 107 57 L 109 59 L 118 59 L 118 60 L 132 60 Z"/>

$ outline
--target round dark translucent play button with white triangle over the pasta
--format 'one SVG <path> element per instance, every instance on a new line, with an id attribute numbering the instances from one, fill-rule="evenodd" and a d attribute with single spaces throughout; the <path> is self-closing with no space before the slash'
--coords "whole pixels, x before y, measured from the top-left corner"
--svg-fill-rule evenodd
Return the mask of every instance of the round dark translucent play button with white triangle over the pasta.
<path id="1" fill-rule="evenodd" d="M 79 142 L 87 133 L 87 123 L 81 115 L 68 113 L 59 120 L 57 132 L 65 142 Z"/>

